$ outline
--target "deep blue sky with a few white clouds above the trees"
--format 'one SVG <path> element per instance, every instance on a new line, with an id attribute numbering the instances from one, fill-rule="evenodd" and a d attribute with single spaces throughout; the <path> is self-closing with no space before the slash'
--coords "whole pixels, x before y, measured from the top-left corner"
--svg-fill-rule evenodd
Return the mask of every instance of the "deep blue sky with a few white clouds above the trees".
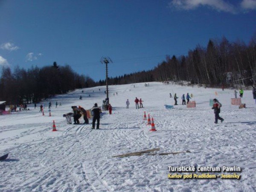
<path id="1" fill-rule="evenodd" d="M 0 66 L 69 64 L 94 80 L 153 69 L 209 38 L 248 43 L 256 0 L 0 0 Z"/>

